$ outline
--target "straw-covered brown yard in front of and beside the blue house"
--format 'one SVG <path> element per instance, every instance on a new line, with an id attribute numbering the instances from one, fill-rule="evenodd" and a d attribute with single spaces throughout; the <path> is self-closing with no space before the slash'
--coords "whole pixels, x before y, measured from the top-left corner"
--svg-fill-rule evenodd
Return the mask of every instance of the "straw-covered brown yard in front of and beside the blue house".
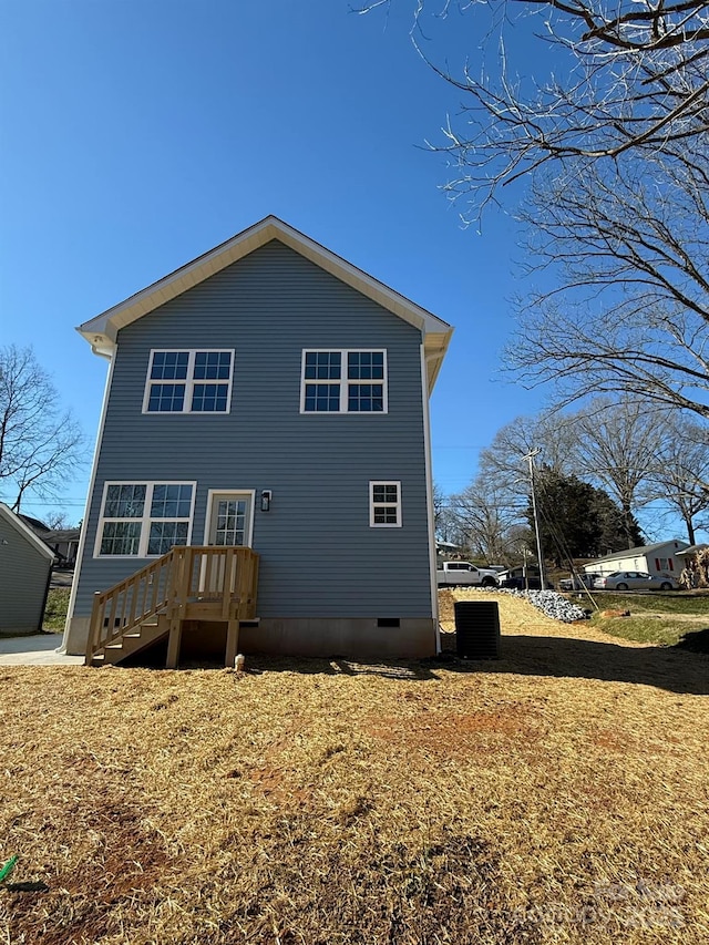
<path id="1" fill-rule="evenodd" d="M 709 941 L 709 657 L 500 603 L 493 664 L 0 669 L 0 942 Z"/>

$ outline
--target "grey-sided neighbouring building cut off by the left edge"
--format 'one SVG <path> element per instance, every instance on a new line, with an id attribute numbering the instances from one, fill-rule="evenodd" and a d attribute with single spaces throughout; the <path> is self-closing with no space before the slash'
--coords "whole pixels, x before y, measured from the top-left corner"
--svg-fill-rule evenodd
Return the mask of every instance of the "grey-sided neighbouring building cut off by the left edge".
<path id="1" fill-rule="evenodd" d="M 0 502 L 0 634 L 37 634 L 49 590 L 53 554 Z"/>

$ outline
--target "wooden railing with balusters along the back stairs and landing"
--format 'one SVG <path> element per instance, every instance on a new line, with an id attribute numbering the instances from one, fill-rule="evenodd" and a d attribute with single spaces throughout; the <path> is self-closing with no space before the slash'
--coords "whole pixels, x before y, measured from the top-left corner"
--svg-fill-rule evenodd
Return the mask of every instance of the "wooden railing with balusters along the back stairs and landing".
<path id="1" fill-rule="evenodd" d="M 181 619 L 188 602 L 220 602 L 222 618 L 256 615 L 258 555 L 240 546 L 172 548 L 93 598 L 86 665 L 94 654 L 158 614 Z"/>

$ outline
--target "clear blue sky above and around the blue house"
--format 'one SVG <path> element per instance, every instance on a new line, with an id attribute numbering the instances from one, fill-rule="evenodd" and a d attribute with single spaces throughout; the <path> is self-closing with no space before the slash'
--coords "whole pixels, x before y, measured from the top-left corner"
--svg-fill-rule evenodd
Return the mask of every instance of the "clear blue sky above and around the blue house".
<path id="1" fill-rule="evenodd" d="M 497 373 L 514 223 L 463 228 L 445 162 L 423 146 L 442 142 L 460 93 L 413 50 L 412 9 L 0 4 L 0 343 L 34 346 L 92 440 L 106 362 L 74 327 L 268 214 L 455 327 L 432 400 L 446 493 L 500 427 L 541 407 Z M 479 45 L 474 22 L 431 22 L 451 68 Z M 80 518 L 88 480 L 50 507 Z"/>

